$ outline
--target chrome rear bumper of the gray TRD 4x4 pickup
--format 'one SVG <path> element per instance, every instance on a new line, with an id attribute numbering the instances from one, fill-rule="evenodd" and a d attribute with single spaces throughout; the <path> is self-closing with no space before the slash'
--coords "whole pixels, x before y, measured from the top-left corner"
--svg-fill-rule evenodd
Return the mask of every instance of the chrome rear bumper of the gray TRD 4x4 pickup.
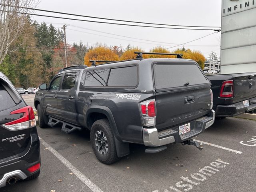
<path id="1" fill-rule="evenodd" d="M 188 140 L 210 127 L 215 120 L 215 111 L 211 110 L 210 116 L 204 116 L 202 118 L 196 119 L 191 124 L 191 131 L 179 135 L 179 126 L 169 128 L 158 132 L 156 128 L 143 128 L 143 142 L 145 146 L 158 147 L 170 143 L 181 143 Z"/>

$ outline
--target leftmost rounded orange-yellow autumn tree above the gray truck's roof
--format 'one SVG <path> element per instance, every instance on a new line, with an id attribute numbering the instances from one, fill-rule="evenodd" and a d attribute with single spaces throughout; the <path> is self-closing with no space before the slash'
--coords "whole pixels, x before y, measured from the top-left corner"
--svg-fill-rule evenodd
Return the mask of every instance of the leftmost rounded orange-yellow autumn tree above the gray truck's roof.
<path id="1" fill-rule="evenodd" d="M 84 64 L 91 66 L 89 60 L 106 60 L 106 61 L 117 61 L 119 60 L 118 55 L 115 54 L 106 46 L 99 46 L 89 50 L 84 56 Z M 98 63 L 96 63 L 98 64 Z"/>

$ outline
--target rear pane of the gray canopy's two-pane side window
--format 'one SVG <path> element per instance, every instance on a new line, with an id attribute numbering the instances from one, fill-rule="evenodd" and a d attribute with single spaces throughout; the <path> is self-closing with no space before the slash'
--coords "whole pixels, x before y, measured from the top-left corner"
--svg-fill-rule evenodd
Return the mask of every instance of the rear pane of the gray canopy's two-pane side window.
<path id="1" fill-rule="evenodd" d="M 107 86 L 134 87 L 138 84 L 137 66 L 113 68 L 110 70 Z"/>

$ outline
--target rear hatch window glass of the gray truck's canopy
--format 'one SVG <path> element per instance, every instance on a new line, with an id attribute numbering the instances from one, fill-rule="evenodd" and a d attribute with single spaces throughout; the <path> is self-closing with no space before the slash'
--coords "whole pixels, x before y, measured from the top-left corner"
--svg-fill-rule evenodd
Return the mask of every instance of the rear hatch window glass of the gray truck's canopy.
<path id="1" fill-rule="evenodd" d="M 154 79 L 156 90 L 209 83 L 196 64 L 155 64 Z"/>

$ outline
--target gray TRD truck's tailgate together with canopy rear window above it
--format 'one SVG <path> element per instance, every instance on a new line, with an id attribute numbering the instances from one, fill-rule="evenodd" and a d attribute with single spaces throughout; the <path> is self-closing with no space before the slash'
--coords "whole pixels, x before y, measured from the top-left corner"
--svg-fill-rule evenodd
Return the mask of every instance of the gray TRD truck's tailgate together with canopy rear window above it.
<path id="1" fill-rule="evenodd" d="M 210 82 L 198 65 L 155 64 L 156 128 L 182 125 L 209 113 Z"/>

